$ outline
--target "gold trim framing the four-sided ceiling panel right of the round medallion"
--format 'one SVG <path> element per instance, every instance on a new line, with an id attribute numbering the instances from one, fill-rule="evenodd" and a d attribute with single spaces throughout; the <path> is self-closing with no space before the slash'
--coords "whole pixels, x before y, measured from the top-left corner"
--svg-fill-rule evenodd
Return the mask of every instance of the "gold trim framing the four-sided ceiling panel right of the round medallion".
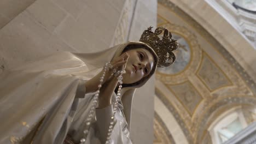
<path id="1" fill-rule="evenodd" d="M 215 89 L 211 89 L 211 88 L 205 83 L 205 81 L 202 79 L 202 77 L 201 77 L 198 73 L 199 73 L 199 71 L 200 71 L 201 68 L 202 68 L 202 61 L 203 61 L 203 58 L 206 58 L 206 57 L 214 64 L 214 66 L 215 66 L 217 69 L 220 70 L 220 72 L 223 73 L 223 75 L 225 76 L 225 78 L 228 80 L 228 82 L 229 82 L 230 84 L 228 83 L 228 84 L 226 84 L 226 85 L 224 85 L 224 86 L 221 86 L 221 87 L 218 87 L 218 88 L 215 88 Z M 200 65 L 199 65 L 199 69 L 196 70 L 195 75 L 196 75 L 196 77 L 199 78 L 199 80 L 201 80 L 201 82 L 203 83 L 203 85 L 206 86 L 206 88 L 208 89 L 208 91 L 214 92 L 214 91 L 217 91 L 218 89 L 221 89 L 221 88 L 234 86 L 234 83 L 229 79 L 229 77 L 224 73 L 224 71 L 218 66 L 218 64 L 217 64 L 215 61 L 213 61 L 213 59 L 212 59 L 205 51 L 203 51 L 203 50 L 202 50 L 202 59 L 201 59 L 201 60 L 202 60 L 202 61 L 201 61 Z"/>

